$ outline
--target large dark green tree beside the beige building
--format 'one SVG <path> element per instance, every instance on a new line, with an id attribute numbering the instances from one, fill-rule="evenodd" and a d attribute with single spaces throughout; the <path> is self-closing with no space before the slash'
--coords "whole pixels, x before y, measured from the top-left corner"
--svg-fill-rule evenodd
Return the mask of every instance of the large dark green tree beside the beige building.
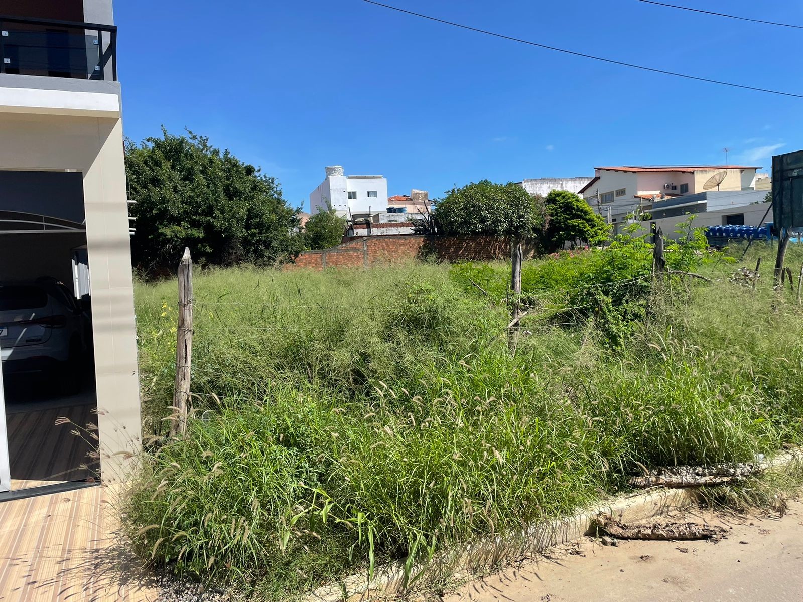
<path id="1" fill-rule="evenodd" d="M 201 264 L 282 262 L 304 247 L 298 210 L 275 178 L 188 132 L 126 141 L 128 198 L 137 201 L 132 262 L 153 275 L 173 270 L 185 246 Z"/>

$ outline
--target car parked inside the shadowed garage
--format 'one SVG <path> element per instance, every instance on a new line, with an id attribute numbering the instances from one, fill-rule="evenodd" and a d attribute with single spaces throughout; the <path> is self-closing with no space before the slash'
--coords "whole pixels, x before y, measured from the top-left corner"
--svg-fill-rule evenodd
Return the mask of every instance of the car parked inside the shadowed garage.
<path id="1" fill-rule="evenodd" d="M 0 283 L 4 375 L 49 372 L 54 389 L 77 393 L 84 380 L 88 332 L 88 315 L 59 280 Z"/>

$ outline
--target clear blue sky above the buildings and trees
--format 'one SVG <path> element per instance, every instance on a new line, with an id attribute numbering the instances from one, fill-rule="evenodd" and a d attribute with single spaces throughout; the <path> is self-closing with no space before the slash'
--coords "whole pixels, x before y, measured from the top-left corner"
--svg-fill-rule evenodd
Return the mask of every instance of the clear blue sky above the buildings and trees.
<path id="1" fill-rule="evenodd" d="M 803 94 L 803 30 L 638 0 L 389 0 L 408 10 L 649 67 Z M 678 4 L 803 24 L 803 4 Z M 756 9 L 759 10 L 756 10 Z M 324 165 L 389 193 L 595 165 L 763 165 L 803 148 L 803 99 L 636 71 L 361 0 L 118 0 L 124 128 L 184 128 L 308 207 Z"/>

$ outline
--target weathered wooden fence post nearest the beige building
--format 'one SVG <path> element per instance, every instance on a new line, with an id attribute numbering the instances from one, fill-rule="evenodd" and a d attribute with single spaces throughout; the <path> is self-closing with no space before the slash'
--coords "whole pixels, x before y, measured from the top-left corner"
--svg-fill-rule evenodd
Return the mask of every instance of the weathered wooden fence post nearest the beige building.
<path id="1" fill-rule="evenodd" d="M 190 405 L 190 368 L 193 360 L 193 260 L 190 249 L 178 264 L 178 327 L 176 331 L 176 387 L 170 437 L 185 433 Z"/>

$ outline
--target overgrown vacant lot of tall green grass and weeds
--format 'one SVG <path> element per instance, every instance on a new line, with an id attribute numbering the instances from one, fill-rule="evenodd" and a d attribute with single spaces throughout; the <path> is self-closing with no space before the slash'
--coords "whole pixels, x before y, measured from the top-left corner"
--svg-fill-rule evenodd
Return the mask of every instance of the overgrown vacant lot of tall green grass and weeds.
<path id="1" fill-rule="evenodd" d="M 515 354 L 503 264 L 197 273 L 194 417 L 142 458 L 125 509 L 137 550 L 282 598 L 566 515 L 639 464 L 799 443 L 795 292 L 773 292 L 769 270 L 752 291 L 729 281 L 740 263 L 692 251 L 672 265 L 712 283 L 652 283 L 642 239 L 526 262 Z M 748 265 L 757 253 L 772 265 L 764 246 Z M 174 282 L 137 287 L 155 435 L 175 297 Z"/>

